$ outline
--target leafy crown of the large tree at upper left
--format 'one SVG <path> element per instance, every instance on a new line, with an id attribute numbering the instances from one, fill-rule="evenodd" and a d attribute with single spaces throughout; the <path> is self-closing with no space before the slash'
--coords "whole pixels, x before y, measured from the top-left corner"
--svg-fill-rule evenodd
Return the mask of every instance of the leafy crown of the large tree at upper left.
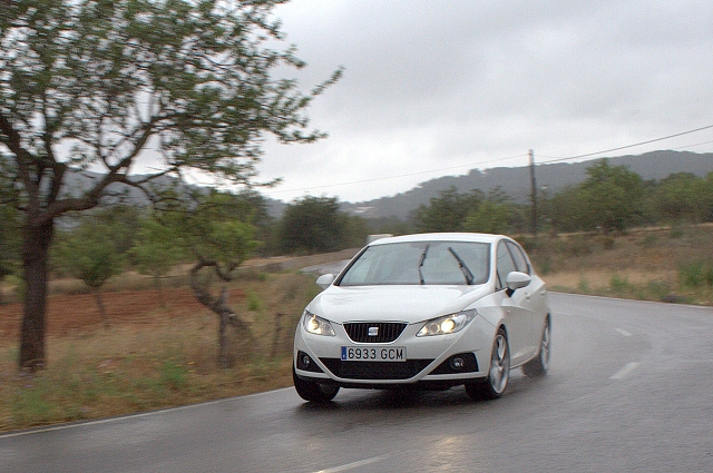
<path id="1" fill-rule="evenodd" d="M 275 49 L 283 39 L 272 18 L 277 3 L 10 2 L 0 29 L 11 45 L 0 62 L 2 114 L 27 134 L 31 159 L 46 148 L 30 137 L 72 136 L 72 165 L 104 161 L 120 177 L 156 136 L 169 166 L 247 181 L 263 132 L 284 142 L 324 136 L 305 131 L 303 112 L 341 76 L 336 70 L 307 95 L 295 80 L 271 77 L 304 67 L 293 47 Z M 113 134 L 102 132 L 107 124 Z"/>

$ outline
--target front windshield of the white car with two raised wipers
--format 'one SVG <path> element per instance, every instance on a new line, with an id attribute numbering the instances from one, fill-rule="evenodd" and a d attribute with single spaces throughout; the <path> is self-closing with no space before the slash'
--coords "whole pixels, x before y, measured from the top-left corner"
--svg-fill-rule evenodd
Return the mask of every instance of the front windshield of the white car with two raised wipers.
<path id="1" fill-rule="evenodd" d="M 336 282 L 339 286 L 484 284 L 490 245 L 477 242 L 413 242 L 368 247 Z"/>

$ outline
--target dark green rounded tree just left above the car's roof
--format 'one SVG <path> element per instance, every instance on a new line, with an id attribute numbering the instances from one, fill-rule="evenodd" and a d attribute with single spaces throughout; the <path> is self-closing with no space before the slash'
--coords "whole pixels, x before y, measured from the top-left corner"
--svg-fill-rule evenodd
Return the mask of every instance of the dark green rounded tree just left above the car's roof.
<path id="1" fill-rule="evenodd" d="M 287 206 L 279 228 L 279 245 L 285 253 L 340 249 L 345 220 L 334 197 L 304 197 Z"/>

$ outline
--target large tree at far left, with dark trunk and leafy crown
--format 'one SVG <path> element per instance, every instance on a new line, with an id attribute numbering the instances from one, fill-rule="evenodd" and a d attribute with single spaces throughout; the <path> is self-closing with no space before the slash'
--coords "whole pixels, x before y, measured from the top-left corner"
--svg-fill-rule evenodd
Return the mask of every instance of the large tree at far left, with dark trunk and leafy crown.
<path id="1" fill-rule="evenodd" d="M 311 142 L 304 66 L 272 11 L 280 0 L 18 0 L 0 9 L 0 154 L 23 211 L 27 285 L 19 364 L 46 362 L 46 298 L 55 220 L 96 207 L 118 184 L 185 168 L 233 184 L 256 178 L 265 134 Z M 131 178 L 137 161 L 158 169 Z M 101 174 L 71 195 L 68 176 Z M 114 185 L 114 186 L 113 186 Z"/>

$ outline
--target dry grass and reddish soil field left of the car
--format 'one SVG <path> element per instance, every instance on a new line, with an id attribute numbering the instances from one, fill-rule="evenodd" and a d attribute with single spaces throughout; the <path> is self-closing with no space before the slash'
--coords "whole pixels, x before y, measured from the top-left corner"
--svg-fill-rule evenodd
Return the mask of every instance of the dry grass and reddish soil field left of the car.
<path id="1" fill-rule="evenodd" d="M 141 412 L 289 386 L 292 336 L 316 294 L 309 275 L 254 273 L 229 302 L 235 366 L 217 368 L 217 317 L 187 288 L 106 293 L 109 327 L 86 294 L 50 296 L 48 367 L 18 374 L 21 307 L 0 306 L 0 431 Z"/>

